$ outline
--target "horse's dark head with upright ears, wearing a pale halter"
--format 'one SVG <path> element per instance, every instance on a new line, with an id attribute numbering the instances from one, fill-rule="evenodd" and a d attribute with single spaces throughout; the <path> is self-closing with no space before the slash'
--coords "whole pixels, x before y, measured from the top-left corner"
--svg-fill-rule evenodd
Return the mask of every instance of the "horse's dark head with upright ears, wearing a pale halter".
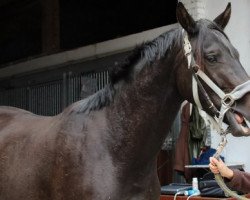
<path id="1" fill-rule="evenodd" d="M 182 52 L 186 53 L 187 62 L 177 70 L 177 84 L 185 99 L 200 104 L 210 116 L 223 118 L 232 135 L 249 136 L 250 81 L 239 61 L 238 51 L 223 31 L 230 15 L 229 3 L 213 21 L 195 21 L 183 4 L 178 4 L 177 19 L 185 30 L 184 42 L 190 42 L 191 46 L 189 52 Z M 185 75 L 180 77 L 180 73 Z M 197 82 L 198 86 L 194 87 Z M 198 88 L 197 92 L 194 88 Z"/>

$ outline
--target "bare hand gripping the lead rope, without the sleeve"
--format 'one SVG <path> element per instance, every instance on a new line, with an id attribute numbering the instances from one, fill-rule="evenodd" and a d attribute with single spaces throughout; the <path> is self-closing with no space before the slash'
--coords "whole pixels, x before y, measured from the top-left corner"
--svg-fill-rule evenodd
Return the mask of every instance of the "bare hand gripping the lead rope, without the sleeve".
<path id="1" fill-rule="evenodd" d="M 221 176 L 228 179 L 233 178 L 233 171 L 229 169 L 222 160 L 217 160 L 214 157 L 210 157 L 209 168 L 214 174 L 220 173 Z"/>

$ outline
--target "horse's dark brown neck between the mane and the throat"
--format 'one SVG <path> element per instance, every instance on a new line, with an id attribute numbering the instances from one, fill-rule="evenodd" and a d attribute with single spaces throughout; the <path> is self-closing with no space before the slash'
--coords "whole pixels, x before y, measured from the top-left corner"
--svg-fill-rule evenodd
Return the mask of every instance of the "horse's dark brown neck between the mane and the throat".
<path id="1" fill-rule="evenodd" d="M 122 87 L 108 110 L 113 151 L 121 162 L 155 163 L 182 102 L 175 81 L 176 59 L 168 55 L 158 66 L 149 66 L 129 86 Z"/>

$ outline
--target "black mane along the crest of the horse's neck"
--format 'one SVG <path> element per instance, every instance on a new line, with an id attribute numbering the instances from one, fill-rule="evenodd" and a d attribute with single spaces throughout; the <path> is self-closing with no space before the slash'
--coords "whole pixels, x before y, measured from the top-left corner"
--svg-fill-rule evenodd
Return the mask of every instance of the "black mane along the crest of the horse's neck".
<path id="1" fill-rule="evenodd" d="M 117 88 L 119 88 L 116 86 L 121 82 L 131 81 L 135 77 L 135 73 L 138 73 L 138 69 L 134 70 L 135 67 L 141 70 L 144 66 L 151 65 L 154 61 L 162 58 L 167 50 L 171 50 L 174 42 L 180 44 L 181 41 L 181 29 L 172 29 L 153 41 L 137 46 L 122 63 L 110 70 L 110 84 L 95 94 L 74 103 L 70 106 L 70 112 L 87 114 L 92 110 L 99 110 L 110 105 Z"/>

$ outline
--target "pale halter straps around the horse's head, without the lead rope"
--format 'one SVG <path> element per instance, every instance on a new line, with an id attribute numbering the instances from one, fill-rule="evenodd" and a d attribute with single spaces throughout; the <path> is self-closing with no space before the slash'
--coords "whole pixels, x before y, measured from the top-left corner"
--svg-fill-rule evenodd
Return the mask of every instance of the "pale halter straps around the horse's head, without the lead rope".
<path id="1" fill-rule="evenodd" d="M 250 92 L 250 80 L 236 86 L 230 93 L 224 93 L 196 64 L 193 54 L 192 54 L 192 46 L 188 39 L 188 34 L 186 31 L 182 31 L 183 34 L 183 48 L 184 54 L 188 61 L 188 69 L 192 71 L 192 94 L 195 101 L 195 104 L 198 108 L 202 109 L 202 105 L 200 102 L 198 88 L 201 90 L 202 95 L 205 97 L 205 100 L 208 104 L 208 107 L 211 109 L 214 117 L 210 118 L 210 121 L 213 123 L 215 129 L 220 134 L 225 134 L 226 131 L 222 128 L 222 122 L 224 116 L 228 110 L 232 108 L 234 102 L 240 98 L 242 98 L 246 93 Z M 221 108 L 220 111 L 214 106 L 211 101 L 209 95 L 204 89 L 203 85 L 200 82 L 202 79 L 221 99 Z M 247 122 L 247 120 L 245 120 Z"/>

